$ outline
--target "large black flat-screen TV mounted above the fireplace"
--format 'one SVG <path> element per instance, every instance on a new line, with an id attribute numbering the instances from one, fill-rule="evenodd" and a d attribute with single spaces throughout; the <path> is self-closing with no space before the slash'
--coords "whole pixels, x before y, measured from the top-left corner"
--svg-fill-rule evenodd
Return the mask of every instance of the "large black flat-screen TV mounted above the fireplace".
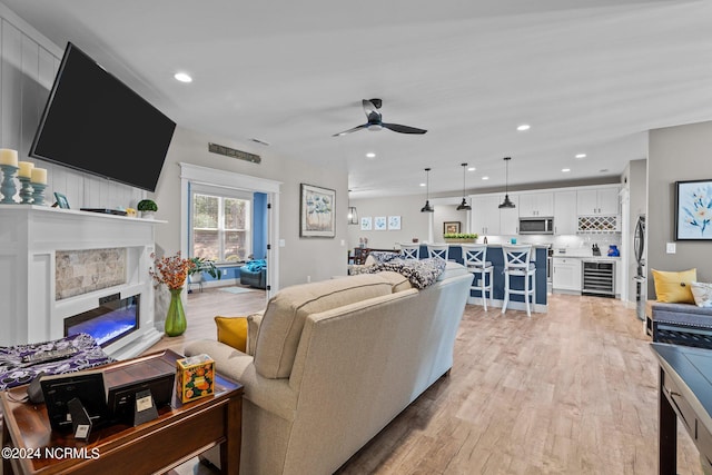
<path id="1" fill-rule="evenodd" d="M 175 128 L 70 42 L 30 156 L 155 191 Z"/>

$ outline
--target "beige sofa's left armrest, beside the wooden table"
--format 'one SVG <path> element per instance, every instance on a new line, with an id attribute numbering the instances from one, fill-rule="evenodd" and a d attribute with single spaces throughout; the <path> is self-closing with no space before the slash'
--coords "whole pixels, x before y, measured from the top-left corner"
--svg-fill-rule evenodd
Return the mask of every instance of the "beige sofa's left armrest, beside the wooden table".
<path id="1" fill-rule="evenodd" d="M 286 420 L 294 420 L 298 393 L 289 387 L 286 378 L 269 379 L 258 375 L 250 355 L 214 339 L 190 342 L 186 344 L 185 353 L 186 356 L 210 355 L 220 375 L 244 386 L 246 399 Z"/>

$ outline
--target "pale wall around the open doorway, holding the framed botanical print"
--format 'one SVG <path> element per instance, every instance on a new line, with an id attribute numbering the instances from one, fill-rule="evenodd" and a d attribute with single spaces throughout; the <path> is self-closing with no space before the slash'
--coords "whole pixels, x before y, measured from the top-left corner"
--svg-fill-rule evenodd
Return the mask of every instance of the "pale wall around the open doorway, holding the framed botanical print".
<path id="1" fill-rule="evenodd" d="M 259 155 L 261 164 L 211 154 L 208 151 L 209 142 Z M 279 238 L 284 240 L 285 246 L 279 248 L 280 287 L 303 284 L 307 278 L 324 280 L 336 275 L 346 275 L 348 176 L 345 166 L 316 168 L 274 156 L 263 146 L 241 144 L 177 127 L 155 194 L 159 207 L 157 219 L 169 221 L 169 225 L 158 228 L 157 240 L 168 253 L 180 249 L 180 162 L 283 182 L 279 197 Z M 303 182 L 336 190 L 336 238 L 299 237 L 299 188 Z"/>

